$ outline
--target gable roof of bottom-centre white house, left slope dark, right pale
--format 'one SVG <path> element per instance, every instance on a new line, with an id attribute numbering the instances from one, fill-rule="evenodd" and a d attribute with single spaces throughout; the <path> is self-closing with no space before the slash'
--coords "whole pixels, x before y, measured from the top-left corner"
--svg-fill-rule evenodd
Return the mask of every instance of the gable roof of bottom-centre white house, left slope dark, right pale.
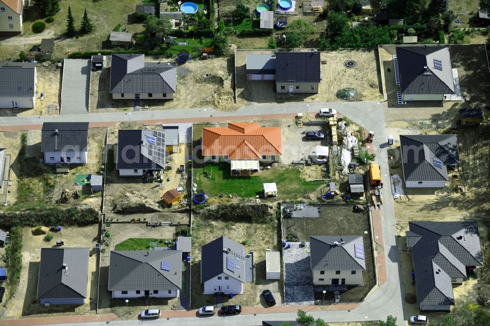
<path id="1" fill-rule="evenodd" d="M 227 268 L 229 259 L 234 271 Z M 245 283 L 245 247 L 224 235 L 201 247 L 201 283 L 221 273 Z"/>

